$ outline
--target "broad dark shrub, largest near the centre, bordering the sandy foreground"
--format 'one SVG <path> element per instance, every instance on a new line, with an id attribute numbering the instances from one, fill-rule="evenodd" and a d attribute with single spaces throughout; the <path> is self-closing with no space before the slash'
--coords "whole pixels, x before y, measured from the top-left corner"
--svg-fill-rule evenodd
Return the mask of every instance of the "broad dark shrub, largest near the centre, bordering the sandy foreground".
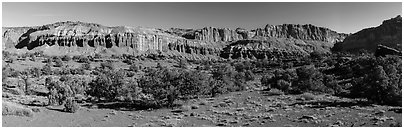
<path id="1" fill-rule="evenodd" d="M 156 107 L 173 106 L 175 100 L 205 94 L 208 75 L 182 69 L 151 69 L 139 81 L 143 93 L 153 96 Z"/>

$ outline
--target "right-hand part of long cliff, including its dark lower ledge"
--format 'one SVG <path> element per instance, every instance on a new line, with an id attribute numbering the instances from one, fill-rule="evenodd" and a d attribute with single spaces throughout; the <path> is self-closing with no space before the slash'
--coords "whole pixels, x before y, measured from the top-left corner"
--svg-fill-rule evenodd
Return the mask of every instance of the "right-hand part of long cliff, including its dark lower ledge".
<path id="1" fill-rule="evenodd" d="M 275 58 L 308 55 L 312 51 L 329 52 L 334 43 L 342 42 L 347 34 L 313 25 L 266 25 L 264 28 L 246 30 L 237 28 L 205 27 L 199 30 L 171 29 L 169 33 L 187 39 L 207 42 L 230 42 L 223 58 Z"/>

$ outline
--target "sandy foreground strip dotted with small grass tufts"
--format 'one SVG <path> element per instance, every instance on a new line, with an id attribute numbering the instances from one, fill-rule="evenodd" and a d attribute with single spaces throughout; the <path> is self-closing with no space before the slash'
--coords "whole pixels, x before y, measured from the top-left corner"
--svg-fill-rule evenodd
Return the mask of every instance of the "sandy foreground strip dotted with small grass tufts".
<path id="1" fill-rule="evenodd" d="M 401 107 L 369 105 L 334 96 L 301 100 L 299 95 L 270 96 L 244 91 L 187 101 L 182 110 L 120 110 L 82 106 L 76 113 L 62 106 L 39 107 L 33 117 L 3 116 L 4 127 L 144 127 L 144 126 L 347 126 L 402 125 Z"/>

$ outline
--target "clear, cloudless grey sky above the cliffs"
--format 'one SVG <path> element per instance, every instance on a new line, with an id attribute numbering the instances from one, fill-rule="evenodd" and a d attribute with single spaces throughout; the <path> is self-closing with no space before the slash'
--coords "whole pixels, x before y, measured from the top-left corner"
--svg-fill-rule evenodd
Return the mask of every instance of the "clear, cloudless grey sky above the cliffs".
<path id="1" fill-rule="evenodd" d="M 2 26 L 37 26 L 82 21 L 106 26 L 152 28 L 263 28 L 265 25 L 313 24 L 355 33 L 402 13 L 401 3 L 136 3 L 3 2 Z"/>

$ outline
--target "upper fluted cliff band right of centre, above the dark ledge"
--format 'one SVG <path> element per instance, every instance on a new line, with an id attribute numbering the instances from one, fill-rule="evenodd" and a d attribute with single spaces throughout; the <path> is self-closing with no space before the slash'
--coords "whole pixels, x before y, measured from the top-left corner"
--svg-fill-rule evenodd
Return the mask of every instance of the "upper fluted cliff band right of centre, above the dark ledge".
<path id="1" fill-rule="evenodd" d="M 343 41 L 343 39 L 347 36 L 347 34 L 337 33 L 328 28 L 317 27 L 311 24 L 283 24 L 276 26 L 266 25 L 264 28 L 258 28 L 255 30 L 245 30 L 242 28 L 231 30 L 229 28 L 212 27 L 205 27 L 199 30 L 180 30 L 172 28 L 170 32 L 177 32 L 176 34 L 187 39 L 197 39 L 210 42 L 229 42 L 259 37 L 271 37 L 335 43 Z"/>

